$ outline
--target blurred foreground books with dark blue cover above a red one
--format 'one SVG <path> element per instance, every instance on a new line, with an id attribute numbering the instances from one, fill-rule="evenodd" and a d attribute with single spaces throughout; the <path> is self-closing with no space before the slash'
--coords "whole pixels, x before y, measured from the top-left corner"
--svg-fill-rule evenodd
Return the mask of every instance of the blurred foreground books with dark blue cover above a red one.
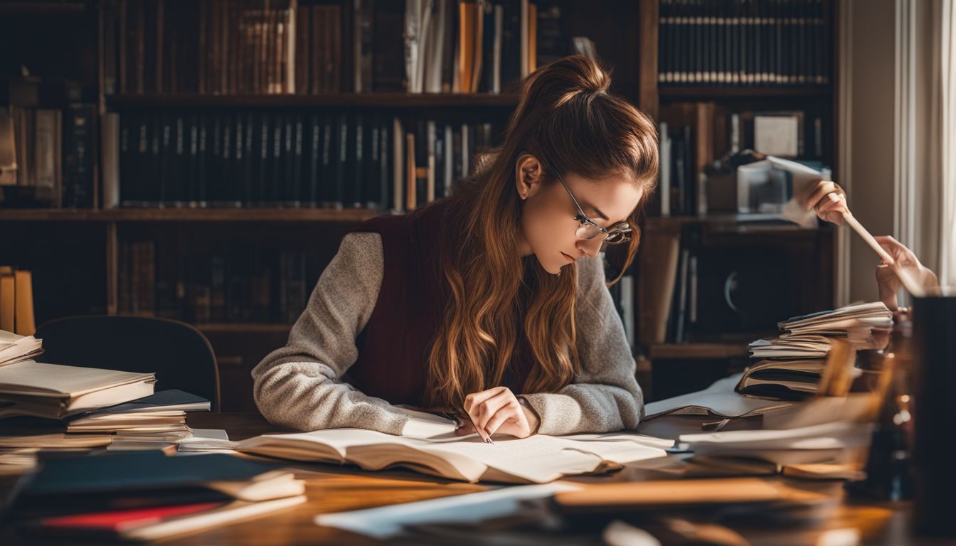
<path id="1" fill-rule="evenodd" d="M 63 457 L 25 481 L 12 505 L 17 523 L 71 540 L 185 535 L 306 500 L 292 472 L 223 454 Z"/>

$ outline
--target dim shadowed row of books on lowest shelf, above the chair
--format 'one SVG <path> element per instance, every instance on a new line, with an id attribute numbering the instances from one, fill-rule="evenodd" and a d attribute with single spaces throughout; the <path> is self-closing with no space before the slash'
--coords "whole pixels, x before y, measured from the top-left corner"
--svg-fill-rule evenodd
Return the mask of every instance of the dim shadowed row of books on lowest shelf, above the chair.
<path id="1" fill-rule="evenodd" d="M 155 241 L 121 241 L 118 277 L 122 315 L 193 323 L 293 323 L 315 285 L 305 252 L 237 250 L 179 256 Z"/>

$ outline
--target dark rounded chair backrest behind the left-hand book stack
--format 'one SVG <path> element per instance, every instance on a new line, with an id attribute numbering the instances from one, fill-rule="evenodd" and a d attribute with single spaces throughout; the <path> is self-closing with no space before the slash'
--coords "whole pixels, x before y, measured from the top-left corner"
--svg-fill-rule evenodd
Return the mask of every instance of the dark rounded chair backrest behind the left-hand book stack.
<path id="1" fill-rule="evenodd" d="M 156 372 L 156 390 L 178 388 L 219 411 L 219 367 L 206 336 L 185 322 L 154 317 L 56 318 L 34 334 L 38 361 L 88 368 Z"/>

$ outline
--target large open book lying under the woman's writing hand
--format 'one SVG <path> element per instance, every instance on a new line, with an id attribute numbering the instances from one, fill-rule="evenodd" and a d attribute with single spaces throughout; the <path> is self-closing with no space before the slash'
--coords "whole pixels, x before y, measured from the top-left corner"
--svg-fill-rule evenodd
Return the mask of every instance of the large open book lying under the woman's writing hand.
<path id="1" fill-rule="evenodd" d="M 405 434 L 394 436 L 360 428 L 333 428 L 257 436 L 237 451 L 296 461 L 354 464 L 364 470 L 402 467 L 467 482 L 546 483 L 619 464 L 665 456 L 673 445 L 629 432 L 577 436 L 495 437 L 485 444 L 477 434 L 458 436 L 451 421 L 417 413 Z"/>

